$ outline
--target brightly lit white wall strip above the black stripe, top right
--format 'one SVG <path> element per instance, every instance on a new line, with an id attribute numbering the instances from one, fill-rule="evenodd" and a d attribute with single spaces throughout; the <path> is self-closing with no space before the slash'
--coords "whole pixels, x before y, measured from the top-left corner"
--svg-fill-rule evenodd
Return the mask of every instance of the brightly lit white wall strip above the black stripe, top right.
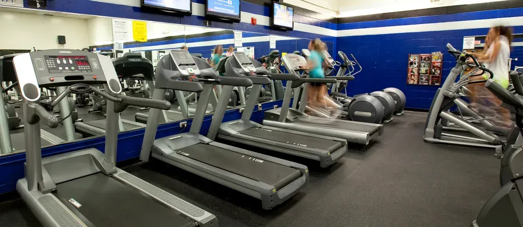
<path id="1" fill-rule="evenodd" d="M 498 2 L 507 0 L 441 0 L 432 3 L 431 0 L 338 0 L 338 17 L 354 17 L 371 14 L 391 13 L 397 11 L 435 8 L 442 6 L 467 5 L 485 2 Z M 322 2 L 323 1 L 319 1 Z"/>

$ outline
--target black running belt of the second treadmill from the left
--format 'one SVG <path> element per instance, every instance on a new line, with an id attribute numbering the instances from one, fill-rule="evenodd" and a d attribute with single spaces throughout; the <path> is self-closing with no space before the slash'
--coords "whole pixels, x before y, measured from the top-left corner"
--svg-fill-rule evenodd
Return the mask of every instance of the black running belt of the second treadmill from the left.
<path id="1" fill-rule="evenodd" d="M 299 170 L 289 166 L 249 157 L 208 144 L 195 144 L 176 150 L 176 152 L 217 168 L 272 185 L 276 190 L 301 176 Z"/>

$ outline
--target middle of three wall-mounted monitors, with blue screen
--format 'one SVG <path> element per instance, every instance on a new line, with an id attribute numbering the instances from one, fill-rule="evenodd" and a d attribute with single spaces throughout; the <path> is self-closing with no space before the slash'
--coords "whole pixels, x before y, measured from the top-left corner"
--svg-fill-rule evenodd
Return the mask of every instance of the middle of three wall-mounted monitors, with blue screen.
<path id="1" fill-rule="evenodd" d="M 207 0 L 205 16 L 227 22 L 240 22 L 240 0 Z"/>

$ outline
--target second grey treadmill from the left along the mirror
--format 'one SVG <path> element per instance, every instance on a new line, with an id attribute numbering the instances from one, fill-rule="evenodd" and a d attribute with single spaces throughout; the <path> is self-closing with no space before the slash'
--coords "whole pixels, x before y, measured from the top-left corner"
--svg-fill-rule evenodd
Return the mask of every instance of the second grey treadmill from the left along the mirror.
<path id="1" fill-rule="evenodd" d="M 163 83 L 169 78 L 203 83 L 196 113 L 188 133 L 154 140 L 160 111 L 151 110 L 152 118 L 147 121 L 145 128 L 141 160 L 148 161 L 152 155 L 180 169 L 260 199 L 262 207 L 267 210 L 298 193 L 308 182 L 309 171 L 305 165 L 224 145 L 200 135 L 214 85 L 251 86 L 251 80 L 220 77 L 204 59 L 191 57 L 186 50 L 171 50 L 158 62 L 157 82 Z M 155 88 L 153 99 L 163 100 L 164 94 L 163 89 Z M 219 108 L 226 107 L 223 105 Z M 216 119 L 222 121 L 221 118 Z"/>

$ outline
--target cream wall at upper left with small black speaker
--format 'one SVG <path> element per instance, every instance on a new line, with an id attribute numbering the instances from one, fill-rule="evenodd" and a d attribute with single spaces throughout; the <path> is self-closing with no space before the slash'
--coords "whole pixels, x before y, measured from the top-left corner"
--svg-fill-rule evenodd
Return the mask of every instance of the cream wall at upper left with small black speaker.
<path id="1" fill-rule="evenodd" d="M 0 13 L 0 49 L 38 50 L 88 47 L 87 20 L 37 14 Z M 65 35 L 66 44 L 58 44 Z"/>

